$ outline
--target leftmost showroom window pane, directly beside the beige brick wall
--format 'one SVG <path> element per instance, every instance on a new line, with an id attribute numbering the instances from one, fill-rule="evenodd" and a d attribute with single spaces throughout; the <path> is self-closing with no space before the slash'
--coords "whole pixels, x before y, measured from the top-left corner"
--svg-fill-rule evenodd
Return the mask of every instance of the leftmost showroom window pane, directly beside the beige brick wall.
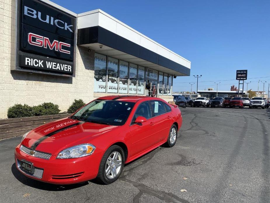
<path id="1" fill-rule="evenodd" d="M 106 92 L 106 56 L 95 53 L 94 92 Z"/>

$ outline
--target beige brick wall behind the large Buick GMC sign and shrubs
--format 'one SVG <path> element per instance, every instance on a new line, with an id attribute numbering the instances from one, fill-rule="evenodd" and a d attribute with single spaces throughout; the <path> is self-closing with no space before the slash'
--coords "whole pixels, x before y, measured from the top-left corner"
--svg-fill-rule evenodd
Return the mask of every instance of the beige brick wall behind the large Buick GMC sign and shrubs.
<path id="1" fill-rule="evenodd" d="M 53 102 L 66 111 L 74 99 L 89 102 L 94 89 L 94 51 L 76 47 L 75 77 L 11 71 L 11 0 L 0 0 L 0 118 L 13 104 Z"/>

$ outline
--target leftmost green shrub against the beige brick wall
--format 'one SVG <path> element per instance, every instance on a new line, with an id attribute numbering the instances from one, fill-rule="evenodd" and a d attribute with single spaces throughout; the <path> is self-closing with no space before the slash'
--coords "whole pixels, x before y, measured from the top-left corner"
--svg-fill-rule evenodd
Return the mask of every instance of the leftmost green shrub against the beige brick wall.
<path id="1" fill-rule="evenodd" d="M 27 104 L 14 104 L 8 108 L 8 118 L 33 116 L 32 107 Z"/>

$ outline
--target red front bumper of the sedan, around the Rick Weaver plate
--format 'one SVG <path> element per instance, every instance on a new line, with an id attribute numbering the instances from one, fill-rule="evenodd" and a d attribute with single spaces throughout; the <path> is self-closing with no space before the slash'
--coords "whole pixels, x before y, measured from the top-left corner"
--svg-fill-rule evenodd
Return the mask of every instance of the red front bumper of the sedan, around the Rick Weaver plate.
<path id="1" fill-rule="evenodd" d="M 101 157 L 99 154 L 74 159 L 41 159 L 20 150 L 20 144 L 15 148 L 15 164 L 17 169 L 25 176 L 52 184 L 74 184 L 94 179 L 97 176 Z M 33 164 L 33 174 L 21 168 L 21 160 Z"/>

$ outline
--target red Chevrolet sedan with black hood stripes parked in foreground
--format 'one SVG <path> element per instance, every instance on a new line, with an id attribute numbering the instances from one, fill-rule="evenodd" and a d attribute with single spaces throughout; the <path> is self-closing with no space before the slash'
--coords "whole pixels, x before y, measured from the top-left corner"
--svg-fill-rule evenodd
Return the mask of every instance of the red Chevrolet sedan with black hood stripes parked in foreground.
<path id="1" fill-rule="evenodd" d="M 159 98 L 107 96 L 68 118 L 26 133 L 15 149 L 18 170 L 29 178 L 73 184 L 97 178 L 110 184 L 125 163 L 164 144 L 173 147 L 180 109 Z"/>

